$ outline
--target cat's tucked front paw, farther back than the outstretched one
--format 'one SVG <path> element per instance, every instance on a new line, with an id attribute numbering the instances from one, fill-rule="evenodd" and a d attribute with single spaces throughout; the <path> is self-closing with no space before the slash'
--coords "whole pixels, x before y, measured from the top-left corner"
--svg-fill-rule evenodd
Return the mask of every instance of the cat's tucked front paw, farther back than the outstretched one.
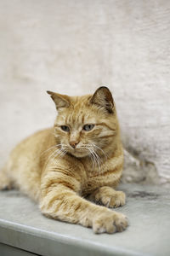
<path id="1" fill-rule="evenodd" d="M 111 187 L 101 187 L 94 190 L 89 199 L 102 203 L 105 207 L 122 207 L 125 205 L 126 195 L 122 191 L 116 191 Z"/>

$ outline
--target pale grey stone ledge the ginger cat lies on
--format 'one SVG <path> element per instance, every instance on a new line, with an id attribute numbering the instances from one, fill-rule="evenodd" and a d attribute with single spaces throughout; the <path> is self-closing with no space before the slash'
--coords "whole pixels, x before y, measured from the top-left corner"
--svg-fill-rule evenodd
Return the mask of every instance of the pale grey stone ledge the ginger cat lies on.
<path id="1" fill-rule="evenodd" d="M 122 233 L 94 235 L 91 229 L 45 218 L 18 191 L 0 192 L 0 242 L 40 255 L 170 255 L 170 192 L 160 186 L 124 184 L 127 215 Z"/>

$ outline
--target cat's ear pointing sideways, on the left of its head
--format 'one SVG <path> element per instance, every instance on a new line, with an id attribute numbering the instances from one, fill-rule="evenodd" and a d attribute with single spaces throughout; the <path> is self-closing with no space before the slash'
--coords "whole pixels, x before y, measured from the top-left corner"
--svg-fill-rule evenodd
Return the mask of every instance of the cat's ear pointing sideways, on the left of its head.
<path id="1" fill-rule="evenodd" d="M 51 96 L 53 99 L 56 108 L 69 108 L 70 106 L 70 100 L 69 96 L 61 95 L 59 93 L 55 93 L 53 91 L 47 90 L 47 93 Z"/>

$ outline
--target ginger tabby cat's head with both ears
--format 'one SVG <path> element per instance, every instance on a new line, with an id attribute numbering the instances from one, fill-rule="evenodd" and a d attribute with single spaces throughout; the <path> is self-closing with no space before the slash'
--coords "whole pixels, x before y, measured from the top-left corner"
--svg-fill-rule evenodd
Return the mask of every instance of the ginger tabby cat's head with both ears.
<path id="1" fill-rule="evenodd" d="M 94 95 L 65 96 L 52 91 L 58 115 L 54 137 L 60 148 L 76 157 L 105 154 L 116 137 L 116 107 L 107 87 L 99 87 Z"/>

